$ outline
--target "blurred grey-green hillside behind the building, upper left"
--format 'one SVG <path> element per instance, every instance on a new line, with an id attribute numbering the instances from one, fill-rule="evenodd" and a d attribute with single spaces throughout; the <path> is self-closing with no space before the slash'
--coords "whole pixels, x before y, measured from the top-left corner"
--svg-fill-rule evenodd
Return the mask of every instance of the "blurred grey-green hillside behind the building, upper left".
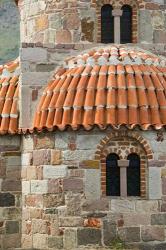
<path id="1" fill-rule="evenodd" d="M 13 0 L 0 0 L 0 64 L 15 59 L 20 47 L 20 17 Z"/>

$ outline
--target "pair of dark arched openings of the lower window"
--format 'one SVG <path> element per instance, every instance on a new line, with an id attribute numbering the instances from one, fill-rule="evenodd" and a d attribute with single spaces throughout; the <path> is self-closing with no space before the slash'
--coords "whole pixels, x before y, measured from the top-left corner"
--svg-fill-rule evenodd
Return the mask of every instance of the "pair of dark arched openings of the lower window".
<path id="1" fill-rule="evenodd" d="M 119 156 L 110 154 L 106 159 L 106 195 L 121 196 L 121 183 L 127 184 L 127 196 L 140 196 L 140 157 L 130 154 L 126 175 L 122 176 L 118 166 Z M 126 178 L 126 180 L 123 180 Z M 121 182 L 122 180 L 122 182 Z"/>

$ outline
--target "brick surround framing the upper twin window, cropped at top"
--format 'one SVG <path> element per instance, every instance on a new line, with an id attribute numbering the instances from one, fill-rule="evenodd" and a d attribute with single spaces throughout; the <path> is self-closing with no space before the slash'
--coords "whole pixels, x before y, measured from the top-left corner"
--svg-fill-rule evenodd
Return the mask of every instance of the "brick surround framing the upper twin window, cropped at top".
<path id="1" fill-rule="evenodd" d="M 97 42 L 101 42 L 101 8 L 105 4 L 110 4 L 115 9 L 121 9 L 123 5 L 127 4 L 132 7 L 132 43 L 138 42 L 138 10 L 145 8 L 145 2 L 143 0 L 102 0 L 93 1 L 93 7 L 96 8 L 96 24 L 97 24 Z"/>

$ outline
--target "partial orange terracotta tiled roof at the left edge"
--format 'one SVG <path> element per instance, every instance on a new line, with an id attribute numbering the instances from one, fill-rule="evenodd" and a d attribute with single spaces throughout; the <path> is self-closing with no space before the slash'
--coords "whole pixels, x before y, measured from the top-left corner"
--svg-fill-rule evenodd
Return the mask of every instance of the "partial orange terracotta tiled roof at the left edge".
<path id="1" fill-rule="evenodd" d="M 18 132 L 19 61 L 0 65 L 0 134 Z"/>

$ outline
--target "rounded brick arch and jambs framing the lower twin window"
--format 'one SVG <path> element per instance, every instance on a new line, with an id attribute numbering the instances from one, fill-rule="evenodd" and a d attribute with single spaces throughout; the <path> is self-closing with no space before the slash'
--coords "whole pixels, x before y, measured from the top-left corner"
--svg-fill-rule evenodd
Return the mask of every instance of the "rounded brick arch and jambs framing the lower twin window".
<path id="1" fill-rule="evenodd" d="M 119 138 L 121 144 L 124 138 L 131 139 L 128 145 L 123 146 L 123 151 L 121 151 L 118 146 L 114 147 L 114 141 Z M 112 143 L 109 145 L 109 143 Z M 137 142 L 138 145 L 132 144 L 132 142 Z M 124 143 L 125 145 L 126 143 Z M 130 146 L 129 146 L 130 145 Z M 103 138 L 97 146 L 95 153 L 95 159 L 99 160 L 101 163 L 101 190 L 102 195 L 106 195 L 106 157 L 110 153 L 115 153 L 120 159 L 127 159 L 128 155 L 131 153 L 136 153 L 140 157 L 140 173 L 141 173 L 141 197 L 145 198 L 147 196 L 147 163 L 148 160 L 153 159 L 153 152 L 147 142 L 139 133 L 136 132 L 113 132 Z"/>

